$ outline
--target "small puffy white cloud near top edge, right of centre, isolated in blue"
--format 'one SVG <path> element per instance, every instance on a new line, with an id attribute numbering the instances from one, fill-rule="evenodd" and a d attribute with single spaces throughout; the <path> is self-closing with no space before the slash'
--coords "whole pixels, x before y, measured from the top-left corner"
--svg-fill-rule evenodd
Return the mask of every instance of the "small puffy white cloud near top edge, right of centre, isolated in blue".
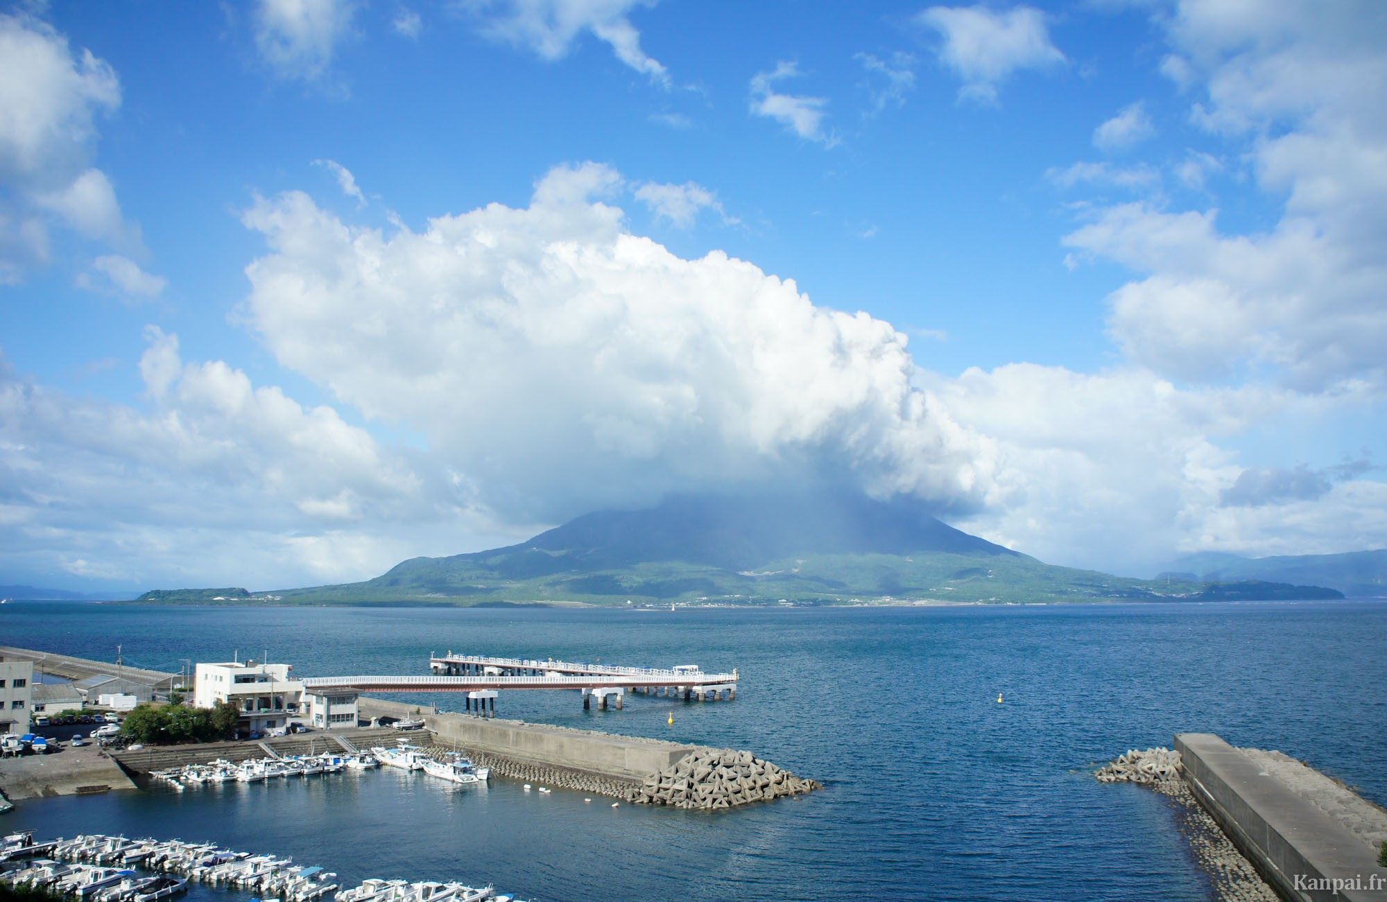
<path id="1" fill-rule="evenodd" d="M 939 60 L 963 79 L 963 100 L 996 103 L 997 86 L 1013 72 L 1064 62 L 1044 14 L 1033 7 L 929 7 L 915 21 L 943 37 Z"/>

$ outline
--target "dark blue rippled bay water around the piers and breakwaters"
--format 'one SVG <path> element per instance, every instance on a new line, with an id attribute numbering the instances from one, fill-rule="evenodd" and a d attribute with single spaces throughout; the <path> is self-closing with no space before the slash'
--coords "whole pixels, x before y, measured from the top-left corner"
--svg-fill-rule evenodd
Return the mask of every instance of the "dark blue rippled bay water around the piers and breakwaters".
<path id="1" fill-rule="evenodd" d="M 1089 773 L 1176 731 L 1279 748 L 1387 805 L 1387 604 L 1373 601 L 678 612 L 29 602 L 0 608 L 0 644 L 105 661 L 119 644 L 129 663 L 161 670 L 268 651 L 301 676 L 424 673 L 430 652 L 449 649 L 735 666 L 731 704 L 628 695 L 624 710 L 585 712 L 576 692 L 512 692 L 498 715 L 749 748 L 825 784 L 691 813 L 388 772 L 44 799 L 4 824 L 205 838 L 344 881 L 491 881 L 535 901 L 1208 899 L 1165 799 Z"/>

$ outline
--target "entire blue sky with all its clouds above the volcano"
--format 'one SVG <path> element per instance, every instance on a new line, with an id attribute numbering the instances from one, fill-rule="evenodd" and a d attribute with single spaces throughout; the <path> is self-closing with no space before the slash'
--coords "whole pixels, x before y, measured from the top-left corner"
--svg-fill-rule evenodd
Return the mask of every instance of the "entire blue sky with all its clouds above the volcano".
<path id="1" fill-rule="evenodd" d="M 767 480 L 1381 547 L 1387 11 L 10 4 L 0 581 L 345 581 Z"/>

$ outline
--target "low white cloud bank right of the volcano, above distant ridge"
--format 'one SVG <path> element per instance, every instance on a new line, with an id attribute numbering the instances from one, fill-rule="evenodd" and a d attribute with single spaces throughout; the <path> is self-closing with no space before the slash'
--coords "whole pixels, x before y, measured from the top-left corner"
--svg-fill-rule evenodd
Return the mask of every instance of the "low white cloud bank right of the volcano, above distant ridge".
<path id="1" fill-rule="evenodd" d="M 996 445 L 994 504 L 956 525 L 1042 561 L 1136 575 L 1172 552 L 1379 547 L 1387 527 L 1387 486 L 1359 479 L 1362 468 L 1326 470 L 1323 484 L 1252 486 L 1252 468 L 1221 447 L 1273 418 L 1293 429 L 1352 418 L 1362 395 L 1180 390 L 1139 368 L 1086 375 L 1033 364 L 924 383 L 960 426 Z"/>

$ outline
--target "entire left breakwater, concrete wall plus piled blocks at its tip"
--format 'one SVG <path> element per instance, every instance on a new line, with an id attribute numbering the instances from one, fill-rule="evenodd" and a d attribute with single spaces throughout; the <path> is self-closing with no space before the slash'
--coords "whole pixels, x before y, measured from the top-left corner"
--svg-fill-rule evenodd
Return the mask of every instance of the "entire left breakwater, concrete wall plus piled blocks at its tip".
<path id="1" fill-rule="evenodd" d="M 416 705 L 376 698 L 362 698 L 361 710 L 373 717 L 413 717 L 417 712 L 438 754 L 462 749 L 499 776 L 638 805 L 723 809 L 820 788 L 818 783 L 745 751 L 519 720 L 436 715 Z"/>

